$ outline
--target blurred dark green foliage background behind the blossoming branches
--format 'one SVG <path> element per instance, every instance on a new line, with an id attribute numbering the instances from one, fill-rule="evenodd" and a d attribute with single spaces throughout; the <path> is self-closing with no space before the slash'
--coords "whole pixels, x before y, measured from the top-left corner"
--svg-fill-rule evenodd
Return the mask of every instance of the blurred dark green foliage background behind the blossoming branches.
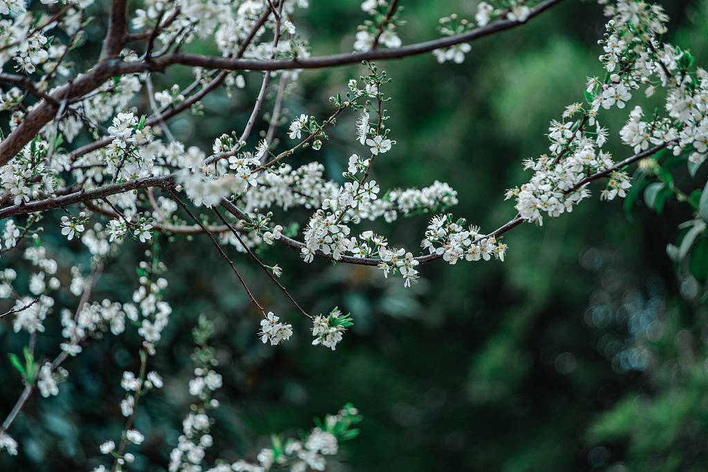
<path id="1" fill-rule="evenodd" d="M 476 3 L 401 1 L 407 22 L 401 39 L 436 38 L 438 18 L 472 18 Z M 351 50 L 365 18 L 359 4 L 312 0 L 297 25 L 313 54 Z M 708 65 L 708 0 L 663 6 L 671 17 L 668 40 Z M 587 76 L 604 75 L 597 60 L 601 13 L 592 2 L 567 0 L 527 25 L 473 42 L 464 64 L 440 65 L 431 54 L 377 64 L 393 79 L 388 127 L 398 144 L 377 159 L 372 178 L 382 188 L 445 181 L 459 192 L 455 216 L 483 231 L 508 221 L 515 210 L 503 192 L 530 177 L 522 159 L 547 151 L 549 120 L 583 100 Z M 88 50 L 98 50 L 105 21 L 96 18 Z M 207 44 L 193 50 L 210 51 Z M 346 91 L 348 79 L 362 73 L 360 65 L 304 71 L 285 98 L 285 116 L 329 116 L 329 96 Z M 177 139 L 210 149 L 215 130 L 240 130 L 261 84 L 258 73 L 245 78 L 246 89 L 232 98 L 219 92 L 205 100 L 204 116 L 173 119 Z M 155 76 L 156 89 L 189 79 L 188 68 L 169 69 Z M 619 146 L 617 131 L 627 113 L 603 115 L 612 131 L 608 149 L 624 159 L 632 150 Z M 296 154 L 290 163 L 319 159 L 330 178 L 341 179 L 348 156 L 360 151 L 354 120 L 343 117 L 321 151 Z M 696 177 L 705 178 L 704 172 Z M 593 187 L 595 195 L 601 185 Z M 285 221 L 282 212 L 275 215 Z M 304 209 L 287 215 L 301 226 L 308 218 Z M 131 470 L 164 470 L 181 434 L 193 369 L 190 330 L 200 313 L 215 323 L 212 345 L 224 376 L 211 451 L 222 459 L 252 459 L 271 432 L 295 435 L 312 427 L 314 416 L 351 402 L 363 415 L 362 432 L 330 461 L 331 471 L 708 470 L 708 311 L 695 281 L 666 256 L 677 225 L 689 218 L 687 206 L 675 202 L 658 216 L 641 200 L 626 211 L 622 201 L 595 197 L 571 214 L 544 219 L 543 226 L 510 231 L 504 263 L 423 265 L 421 281 L 410 289 L 374 269 L 324 260 L 305 265 L 278 245 L 263 251 L 265 263 L 283 267 L 283 284 L 309 313 L 335 305 L 352 313 L 355 325 L 335 352 L 312 347 L 309 324 L 246 255 L 232 251 L 261 304 L 295 327 L 285 345 L 261 344 L 260 314 L 207 238 L 161 237 L 161 259 L 169 267 L 166 299 L 174 311 L 151 368 L 166 385 L 141 400 L 137 427 L 147 439 Z M 417 251 L 427 220 L 423 215 L 372 229 Z M 62 263 L 84 257 L 81 244 L 67 245 L 58 231 L 44 239 Z M 143 251 L 125 244 L 93 299 L 130 299 Z M 22 280 L 25 268 L 14 261 L 4 257 L 0 265 L 16 264 Z M 58 316 L 45 325 L 38 350 L 53 356 Z M 0 343 L 19 354 L 27 339 L 4 320 Z M 69 381 L 59 395 L 35 396 L 13 425 L 21 452 L 0 455 L 0 469 L 74 471 L 100 464 L 98 445 L 116 439 L 124 424 L 120 376 L 137 368 L 138 346 L 135 333 L 108 336 L 69 359 Z M 0 359 L 0 375 L 5 415 L 22 386 L 7 359 Z M 215 458 L 207 455 L 208 462 Z"/>

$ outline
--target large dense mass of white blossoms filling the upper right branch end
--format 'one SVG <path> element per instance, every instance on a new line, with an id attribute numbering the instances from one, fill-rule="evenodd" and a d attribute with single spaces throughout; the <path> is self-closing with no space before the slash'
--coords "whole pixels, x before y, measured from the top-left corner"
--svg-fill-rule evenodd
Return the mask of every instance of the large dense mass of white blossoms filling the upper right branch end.
<path id="1" fill-rule="evenodd" d="M 571 211 L 573 205 L 589 196 L 584 183 L 595 173 L 607 174 L 607 187 L 600 194 L 603 200 L 627 195 L 632 186 L 629 175 L 615 170 L 610 154 L 600 149 L 607 132 L 596 117 L 600 108 L 624 108 L 632 98 L 631 91 L 642 84 L 646 84 L 647 96 L 653 95 L 653 84 L 657 81 L 668 89 L 668 117 L 655 115 L 648 119 L 641 107 L 636 106 L 619 132 L 622 142 L 632 146 L 635 153 L 646 151 L 651 145 L 668 146 L 676 156 L 691 149 L 688 161 L 694 166 L 706 159 L 708 73 L 698 69 L 692 76 L 687 70 L 692 62 L 687 52 L 656 42 L 656 35 L 666 32 L 664 23 L 668 20 L 660 6 L 618 0 L 607 6 L 605 13 L 612 17 L 607 23 L 605 40 L 601 42 L 605 54 L 600 60 L 607 78 L 605 81 L 596 77 L 588 79 L 588 109 L 576 103 L 563 115 L 566 119 L 580 114 L 581 120 L 554 120 L 549 127 L 552 155 L 535 161 L 527 159 L 525 167 L 535 171 L 533 177 L 529 183 L 507 194 L 507 197 L 516 197 L 516 209 L 527 221 L 542 224 L 544 213 L 557 217 Z M 657 81 L 652 82 L 652 76 L 656 76 Z M 595 125 L 595 133 L 589 132 L 587 125 Z"/>

